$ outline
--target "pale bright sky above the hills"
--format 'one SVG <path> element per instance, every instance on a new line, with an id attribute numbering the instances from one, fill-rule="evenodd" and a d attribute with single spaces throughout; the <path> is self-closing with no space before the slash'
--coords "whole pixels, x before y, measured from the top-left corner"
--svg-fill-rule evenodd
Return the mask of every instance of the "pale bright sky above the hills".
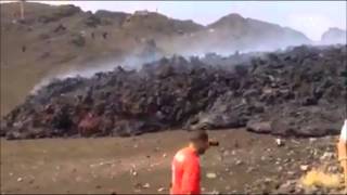
<path id="1" fill-rule="evenodd" d="M 28 0 L 30 1 L 30 0 Z M 330 27 L 346 29 L 346 1 L 39 1 L 50 4 L 75 4 L 83 11 L 110 10 L 133 13 L 158 11 L 169 17 L 193 20 L 207 25 L 220 17 L 239 13 L 304 32 L 320 40 Z"/>

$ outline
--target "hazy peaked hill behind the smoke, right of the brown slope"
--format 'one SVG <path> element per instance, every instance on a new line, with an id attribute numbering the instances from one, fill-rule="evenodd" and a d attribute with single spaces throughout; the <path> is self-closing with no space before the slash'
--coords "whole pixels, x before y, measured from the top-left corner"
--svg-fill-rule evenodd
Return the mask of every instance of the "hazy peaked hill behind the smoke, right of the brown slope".
<path id="1" fill-rule="evenodd" d="M 283 48 L 310 43 L 310 40 L 301 32 L 275 24 L 266 23 L 253 18 L 244 18 L 239 14 L 227 15 L 208 25 L 209 29 L 221 31 L 220 40 L 227 42 L 240 42 L 241 49 L 254 48 Z M 248 44 L 248 46 L 247 46 Z"/>

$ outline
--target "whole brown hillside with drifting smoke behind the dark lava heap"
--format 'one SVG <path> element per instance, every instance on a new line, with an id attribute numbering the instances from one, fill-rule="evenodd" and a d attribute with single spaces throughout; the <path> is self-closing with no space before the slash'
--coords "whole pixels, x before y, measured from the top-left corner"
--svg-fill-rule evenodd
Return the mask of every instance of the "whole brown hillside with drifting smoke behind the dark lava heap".
<path id="1" fill-rule="evenodd" d="M 42 79 L 99 60 L 233 52 L 310 42 L 293 29 L 231 14 L 208 26 L 155 12 L 83 12 L 74 5 L 1 3 L 1 116 Z M 97 64 L 97 65 L 95 65 Z"/>

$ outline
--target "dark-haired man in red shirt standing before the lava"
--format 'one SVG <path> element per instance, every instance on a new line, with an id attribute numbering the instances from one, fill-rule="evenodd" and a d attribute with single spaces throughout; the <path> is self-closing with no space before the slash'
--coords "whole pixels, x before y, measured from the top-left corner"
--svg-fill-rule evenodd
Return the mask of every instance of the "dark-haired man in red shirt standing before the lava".
<path id="1" fill-rule="evenodd" d="M 188 147 L 180 150 L 174 157 L 170 194 L 200 194 L 200 155 L 209 147 L 205 131 L 193 131 Z"/>

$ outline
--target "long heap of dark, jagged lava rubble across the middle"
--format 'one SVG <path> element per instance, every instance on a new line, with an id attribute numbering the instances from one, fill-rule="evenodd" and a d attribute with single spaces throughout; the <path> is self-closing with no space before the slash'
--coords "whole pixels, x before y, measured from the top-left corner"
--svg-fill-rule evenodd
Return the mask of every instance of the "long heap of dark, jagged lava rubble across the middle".
<path id="1" fill-rule="evenodd" d="M 174 56 L 140 70 L 54 80 L 1 122 L 8 139 L 242 128 L 283 136 L 339 132 L 346 46 L 221 57 Z M 224 62 L 224 63 L 222 63 Z"/>

